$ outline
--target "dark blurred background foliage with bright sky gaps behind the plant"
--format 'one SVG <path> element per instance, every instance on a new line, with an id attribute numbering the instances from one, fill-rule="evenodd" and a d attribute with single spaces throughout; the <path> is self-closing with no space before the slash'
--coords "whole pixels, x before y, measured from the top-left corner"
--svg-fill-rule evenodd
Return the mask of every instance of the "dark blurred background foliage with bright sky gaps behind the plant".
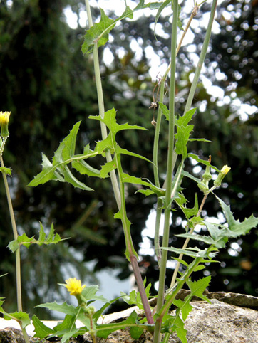
<path id="1" fill-rule="evenodd" d="M 72 29 L 67 25 L 63 13 L 67 6 L 78 16 L 83 10 L 83 3 L 78 0 L 0 1 L 0 104 L 1 110 L 12 112 L 4 160 L 6 166 L 13 169 L 9 181 L 19 233 L 37 235 L 38 221 L 41 221 L 49 228 L 53 222 L 62 238 L 71 237 L 55 248 L 22 249 L 24 310 L 28 312 L 36 312 L 33 306 L 42 302 L 42 296 L 43 302 L 58 300 L 62 295 L 58 295 L 57 283 L 73 277 L 71 274 L 78 273 L 86 283 L 96 283 L 93 273 L 87 270 L 86 261 L 96 260 L 95 271 L 120 268 L 120 278 L 130 275 L 124 257 L 123 229 L 113 219 L 116 208 L 108 180 L 94 180 L 91 184 L 94 192 L 82 192 L 59 183 L 35 189 L 26 186 L 41 169 L 41 152 L 53 156 L 61 139 L 78 120 L 83 120 L 78 134 L 81 145 L 100 139 L 98 125 L 86 120 L 88 115 L 98 114 L 98 106 L 91 56 L 83 58 L 81 53 L 85 28 Z M 209 4 L 205 4 L 202 11 L 208 10 Z M 97 9 L 93 14 L 98 19 Z M 198 14 L 195 19 L 192 29 L 195 36 L 190 48 L 183 46 L 178 56 L 178 112 L 183 111 L 195 56 L 205 33 L 201 16 Z M 185 20 L 187 17 L 182 18 L 183 23 Z M 108 43 L 105 50 L 100 49 L 106 109 L 115 106 L 120 122 L 149 129 L 140 134 L 120 135 L 120 145 L 148 159 L 152 158 L 154 134 L 150 124 L 153 112 L 148 107 L 153 101 L 156 83 L 149 74 L 153 68 L 150 46 L 161 63 L 167 63 L 170 51 L 166 39 L 166 33 L 170 33 L 169 16 L 160 17 L 163 32 L 161 36 L 157 34 L 157 41 L 153 36 L 153 22 L 152 16 L 143 16 L 140 21 L 124 21 L 112 31 L 112 43 Z M 242 221 L 251 213 L 258 216 L 257 2 L 222 2 L 217 27 L 219 30 L 212 36 L 210 54 L 205 61 L 205 77 L 200 80 L 194 104 L 197 107 L 195 137 L 205 137 L 213 143 L 197 142 L 191 148 L 203 158 L 212 155 L 212 164 L 218 168 L 224 164 L 232 167 L 217 194 L 230 201 L 232 211 Z M 138 51 L 132 50 L 135 42 Z M 112 53 L 112 63 L 105 63 L 107 53 Z M 159 65 L 156 70 L 158 74 Z M 211 92 L 207 80 L 220 88 L 213 88 Z M 165 171 L 165 142 L 161 149 L 160 168 Z M 142 160 L 124 159 L 123 164 L 125 172 L 153 177 L 150 166 Z M 95 167 L 98 167 L 97 160 Z M 190 161 L 188 169 L 195 176 L 201 171 Z M 15 307 L 14 255 L 6 246 L 13 238 L 4 186 L 0 182 L 0 275 L 9 273 L 1 278 L 0 295 L 6 297 L 6 310 L 11 311 Z M 188 185 L 182 186 L 187 188 Z M 190 185 L 187 199 L 194 200 L 195 191 L 197 189 Z M 135 188 L 128 187 L 128 218 L 133 222 L 132 236 L 139 250 L 143 240 L 141 232 L 155 199 L 134 193 Z M 205 211 L 223 221 L 221 210 L 212 198 L 207 200 Z M 171 243 L 177 247 L 181 246 L 181 241 L 174 235 L 182 232 L 182 225 L 180 212 L 173 212 Z M 213 277 L 210 290 L 257 295 L 257 250 L 257 230 L 243 240 L 232 241 L 218 256 L 222 263 L 208 266 Z M 140 264 L 154 284 L 158 270 L 153 256 L 142 255 Z"/>

